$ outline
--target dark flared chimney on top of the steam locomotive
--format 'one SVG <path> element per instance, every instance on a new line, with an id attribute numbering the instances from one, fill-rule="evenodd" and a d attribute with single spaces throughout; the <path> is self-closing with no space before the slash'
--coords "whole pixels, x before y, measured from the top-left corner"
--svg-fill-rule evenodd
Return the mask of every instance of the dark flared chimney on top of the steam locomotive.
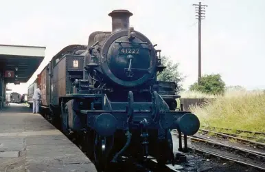
<path id="1" fill-rule="evenodd" d="M 130 17 L 133 13 L 128 10 L 113 10 L 108 16 L 112 17 L 112 32 L 119 30 L 128 30 L 130 25 Z"/>

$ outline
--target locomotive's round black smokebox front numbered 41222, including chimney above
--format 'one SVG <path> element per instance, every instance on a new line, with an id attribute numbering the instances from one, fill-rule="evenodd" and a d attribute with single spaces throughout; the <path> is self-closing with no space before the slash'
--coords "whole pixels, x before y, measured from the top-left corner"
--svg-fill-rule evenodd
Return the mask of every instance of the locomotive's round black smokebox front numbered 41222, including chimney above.
<path id="1" fill-rule="evenodd" d="M 128 10 L 114 10 L 112 32 L 102 45 L 101 66 L 104 74 L 114 83 L 135 87 L 146 83 L 156 72 L 157 56 L 150 40 L 129 28 Z"/>

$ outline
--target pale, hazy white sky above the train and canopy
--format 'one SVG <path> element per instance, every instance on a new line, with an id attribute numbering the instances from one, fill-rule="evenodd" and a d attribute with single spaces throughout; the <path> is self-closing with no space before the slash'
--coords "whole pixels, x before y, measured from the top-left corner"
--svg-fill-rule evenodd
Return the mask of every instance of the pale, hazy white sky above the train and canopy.
<path id="1" fill-rule="evenodd" d="M 265 1 L 202 0 L 202 74 L 221 74 L 226 85 L 265 89 Z M 21 94 L 52 56 L 71 44 L 86 45 L 94 31 L 111 31 L 112 10 L 133 12 L 130 25 L 162 55 L 179 63 L 183 87 L 198 79 L 198 0 L 1 0 L 0 44 L 46 46 L 45 59 L 27 83 L 8 85 Z"/>

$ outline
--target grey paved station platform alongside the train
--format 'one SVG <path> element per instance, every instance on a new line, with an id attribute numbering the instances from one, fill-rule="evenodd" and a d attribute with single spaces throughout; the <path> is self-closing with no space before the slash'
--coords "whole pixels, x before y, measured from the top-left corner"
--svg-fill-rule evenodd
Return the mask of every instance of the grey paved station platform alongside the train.
<path id="1" fill-rule="evenodd" d="M 40 114 L 10 103 L 0 110 L 0 171 L 87 171 L 95 165 Z"/>

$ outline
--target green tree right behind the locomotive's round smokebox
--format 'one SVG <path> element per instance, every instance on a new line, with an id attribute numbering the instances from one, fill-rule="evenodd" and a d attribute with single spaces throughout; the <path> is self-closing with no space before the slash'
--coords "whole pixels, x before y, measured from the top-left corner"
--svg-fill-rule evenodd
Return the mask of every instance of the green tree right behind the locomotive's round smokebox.
<path id="1" fill-rule="evenodd" d="M 176 83 L 176 92 L 181 92 L 183 90 L 182 83 L 184 78 L 181 73 L 178 72 L 178 63 L 173 63 L 167 56 L 162 56 L 162 65 L 167 68 L 163 69 L 163 72 L 159 73 L 157 80 L 161 81 L 174 81 Z"/>

